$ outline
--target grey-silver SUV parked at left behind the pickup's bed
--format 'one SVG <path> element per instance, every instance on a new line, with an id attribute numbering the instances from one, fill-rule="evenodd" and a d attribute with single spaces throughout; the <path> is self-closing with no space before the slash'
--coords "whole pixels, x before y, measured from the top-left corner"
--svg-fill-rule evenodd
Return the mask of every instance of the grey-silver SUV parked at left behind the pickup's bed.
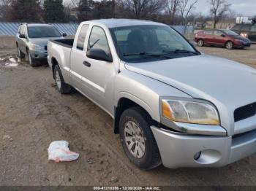
<path id="1" fill-rule="evenodd" d="M 37 66 L 38 61 L 47 61 L 47 44 L 49 39 L 63 39 L 67 34 L 61 34 L 54 26 L 48 24 L 26 24 L 18 28 L 16 46 L 20 58 L 28 58 L 31 66 Z"/>

